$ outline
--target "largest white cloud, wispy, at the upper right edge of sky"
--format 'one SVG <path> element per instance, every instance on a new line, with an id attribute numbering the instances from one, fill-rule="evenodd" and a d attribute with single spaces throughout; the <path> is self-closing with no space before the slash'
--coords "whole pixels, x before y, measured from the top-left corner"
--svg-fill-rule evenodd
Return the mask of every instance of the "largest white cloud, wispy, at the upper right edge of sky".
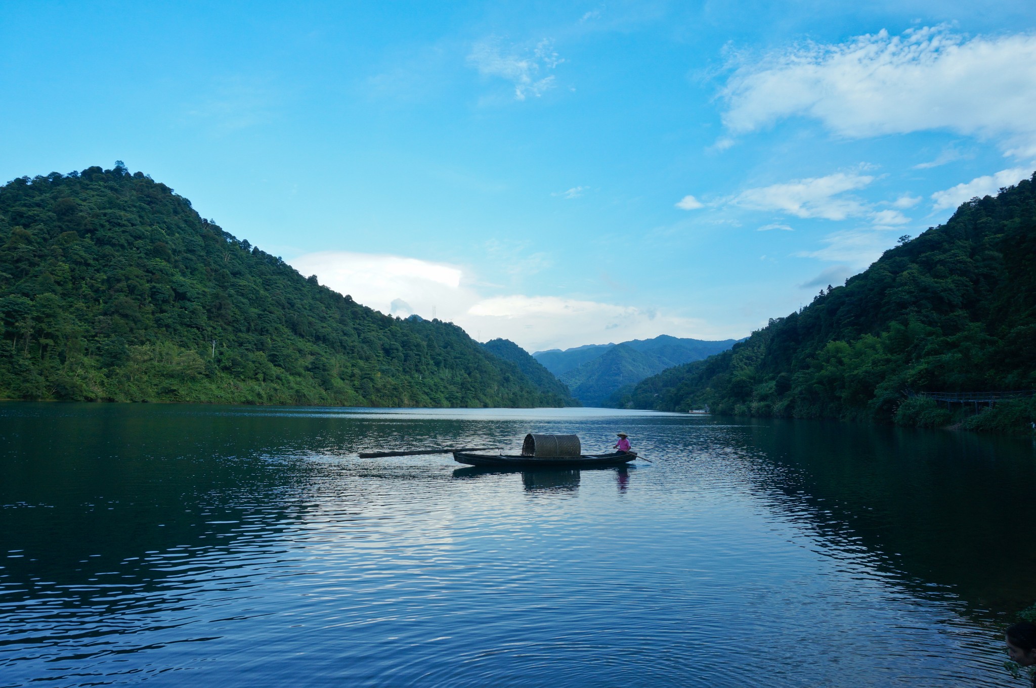
<path id="1" fill-rule="evenodd" d="M 747 133 L 796 115 L 848 138 L 947 129 L 1036 154 L 1036 35 L 967 38 L 946 27 L 807 42 L 745 59 L 722 91 Z"/>

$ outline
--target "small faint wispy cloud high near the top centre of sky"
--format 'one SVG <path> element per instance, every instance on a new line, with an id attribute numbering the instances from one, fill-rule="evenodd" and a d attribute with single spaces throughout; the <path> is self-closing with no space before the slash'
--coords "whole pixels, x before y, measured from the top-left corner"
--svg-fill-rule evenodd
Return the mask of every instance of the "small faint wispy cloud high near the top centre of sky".
<path id="1" fill-rule="evenodd" d="M 554 52 L 550 40 L 541 40 L 531 50 L 515 46 L 503 48 L 496 37 L 480 40 L 467 56 L 469 64 L 485 77 L 497 77 L 514 86 L 516 100 L 540 97 L 554 87 L 554 76 L 546 72 L 565 60 Z"/>

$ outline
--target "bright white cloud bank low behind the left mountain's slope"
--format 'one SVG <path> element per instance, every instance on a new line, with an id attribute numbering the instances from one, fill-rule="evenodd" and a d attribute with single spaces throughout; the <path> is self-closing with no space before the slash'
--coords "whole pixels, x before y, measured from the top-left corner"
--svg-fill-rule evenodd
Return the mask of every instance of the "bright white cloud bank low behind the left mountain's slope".
<path id="1" fill-rule="evenodd" d="M 723 338 L 695 319 L 614 303 L 558 296 L 481 293 L 459 266 L 401 256 L 324 251 L 292 261 L 303 274 L 381 312 L 453 322 L 483 341 L 506 337 L 528 351 L 604 343 L 659 334 Z"/>

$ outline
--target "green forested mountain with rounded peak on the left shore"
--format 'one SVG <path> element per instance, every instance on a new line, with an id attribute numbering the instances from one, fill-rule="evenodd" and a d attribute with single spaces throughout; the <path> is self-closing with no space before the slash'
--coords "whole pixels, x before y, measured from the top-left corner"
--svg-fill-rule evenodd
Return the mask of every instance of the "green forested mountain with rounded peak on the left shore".
<path id="1" fill-rule="evenodd" d="M 117 163 L 0 187 L 0 397 L 537 407 L 512 362 L 239 241 Z"/>

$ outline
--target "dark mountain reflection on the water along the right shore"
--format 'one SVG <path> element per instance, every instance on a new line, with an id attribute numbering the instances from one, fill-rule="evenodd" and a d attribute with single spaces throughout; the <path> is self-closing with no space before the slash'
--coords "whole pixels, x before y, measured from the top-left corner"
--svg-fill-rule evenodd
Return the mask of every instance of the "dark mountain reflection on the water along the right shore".
<path id="1" fill-rule="evenodd" d="M 1031 441 L 801 420 L 750 438 L 775 507 L 836 549 L 865 547 L 913 592 L 949 588 L 979 617 L 1036 601 Z"/>

